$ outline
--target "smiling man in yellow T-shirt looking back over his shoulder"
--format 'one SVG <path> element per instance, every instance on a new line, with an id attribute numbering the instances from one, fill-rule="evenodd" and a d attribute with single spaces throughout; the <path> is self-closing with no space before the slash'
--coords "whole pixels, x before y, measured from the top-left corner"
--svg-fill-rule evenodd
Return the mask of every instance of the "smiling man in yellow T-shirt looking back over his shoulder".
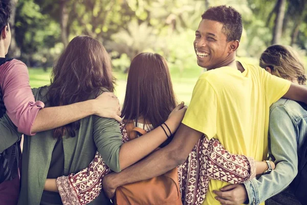
<path id="1" fill-rule="evenodd" d="M 231 153 L 255 160 L 267 158 L 270 106 L 281 97 L 306 103 L 307 88 L 236 61 L 241 34 L 241 15 L 232 7 L 212 7 L 202 15 L 194 49 L 198 65 L 207 72 L 194 87 L 182 125 L 163 149 L 120 173 L 106 175 L 103 187 L 108 197 L 121 185 L 159 176 L 181 165 L 203 135 L 220 140 Z M 226 185 L 211 180 L 203 204 L 220 203 L 213 190 Z"/>

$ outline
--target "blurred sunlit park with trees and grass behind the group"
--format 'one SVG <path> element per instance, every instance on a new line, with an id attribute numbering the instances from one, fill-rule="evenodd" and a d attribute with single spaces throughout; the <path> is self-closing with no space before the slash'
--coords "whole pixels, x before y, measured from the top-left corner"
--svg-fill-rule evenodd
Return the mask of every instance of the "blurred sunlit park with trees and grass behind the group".
<path id="1" fill-rule="evenodd" d="M 157 52 L 169 65 L 179 101 L 189 104 L 203 69 L 193 50 L 206 8 L 233 6 L 243 17 L 239 59 L 258 65 L 272 44 L 291 45 L 307 65 L 307 0 L 11 0 L 9 57 L 29 67 L 31 87 L 50 83 L 53 62 L 76 35 L 98 39 L 112 57 L 122 101 L 126 73 L 140 52 Z M 69 79 L 68 79 L 69 80 Z"/>

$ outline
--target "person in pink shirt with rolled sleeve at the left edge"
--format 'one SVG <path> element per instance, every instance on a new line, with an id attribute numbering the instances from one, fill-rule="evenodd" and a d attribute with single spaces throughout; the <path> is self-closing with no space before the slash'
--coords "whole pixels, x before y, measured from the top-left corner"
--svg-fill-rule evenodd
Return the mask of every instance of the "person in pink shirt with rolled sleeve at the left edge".
<path id="1" fill-rule="evenodd" d="M 8 3 L 2 1 L 0 5 L 0 117 L 4 115 L 9 117 L 18 128 L 18 132 L 27 135 L 61 127 L 89 115 L 121 120 L 119 101 L 110 92 L 104 92 L 96 99 L 43 109 L 45 105 L 41 101 L 35 101 L 32 94 L 27 66 L 20 60 L 5 57 L 11 43 L 8 23 L 10 14 Z M 18 165 L 21 155 L 19 144 L 19 141 L 12 139 L 1 145 L 1 150 L 4 150 L 0 153 L 0 198 L 3 204 L 16 204 L 18 200 Z"/>

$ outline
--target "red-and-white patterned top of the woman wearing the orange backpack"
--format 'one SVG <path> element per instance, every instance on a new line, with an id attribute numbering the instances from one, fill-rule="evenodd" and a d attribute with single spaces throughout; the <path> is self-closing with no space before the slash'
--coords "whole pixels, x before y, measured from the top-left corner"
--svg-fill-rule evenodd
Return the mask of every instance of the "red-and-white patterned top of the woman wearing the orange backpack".
<path id="1" fill-rule="evenodd" d="M 123 142 L 128 141 L 123 122 L 120 124 Z M 100 194 L 102 177 L 110 170 L 97 152 L 89 167 L 77 174 L 59 177 L 57 187 L 64 205 L 87 204 Z M 201 204 L 210 179 L 243 183 L 254 178 L 256 165 L 252 158 L 230 154 L 216 139 L 202 137 L 178 167 L 179 186 L 184 204 Z"/>

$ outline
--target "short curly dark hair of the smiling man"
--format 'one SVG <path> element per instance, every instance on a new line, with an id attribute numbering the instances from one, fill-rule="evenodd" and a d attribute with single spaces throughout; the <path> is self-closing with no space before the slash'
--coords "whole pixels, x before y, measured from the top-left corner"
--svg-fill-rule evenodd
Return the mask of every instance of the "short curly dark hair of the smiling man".
<path id="1" fill-rule="evenodd" d="M 242 35 L 242 16 L 232 7 L 216 6 L 210 7 L 202 15 L 202 19 L 214 20 L 223 24 L 223 33 L 230 40 L 240 41 Z"/>

